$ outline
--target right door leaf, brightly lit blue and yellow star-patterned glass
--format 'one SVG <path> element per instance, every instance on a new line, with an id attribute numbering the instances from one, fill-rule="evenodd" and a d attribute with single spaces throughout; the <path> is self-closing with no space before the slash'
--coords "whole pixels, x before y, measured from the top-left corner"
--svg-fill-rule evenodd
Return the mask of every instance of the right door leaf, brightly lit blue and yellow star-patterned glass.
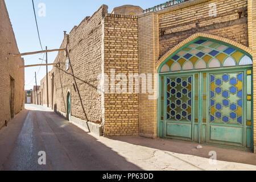
<path id="1" fill-rule="evenodd" d="M 209 143 L 243 146 L 243 72 L 209 74 Z"/>

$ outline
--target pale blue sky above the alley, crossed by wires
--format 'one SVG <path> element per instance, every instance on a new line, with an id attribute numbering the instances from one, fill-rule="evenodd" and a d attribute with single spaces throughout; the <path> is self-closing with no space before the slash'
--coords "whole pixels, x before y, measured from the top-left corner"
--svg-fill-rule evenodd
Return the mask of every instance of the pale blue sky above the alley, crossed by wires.
<path id="1" fill-rule="evenodd" d="M 105 4 L 109 7 L 109 13 L 114 7 L 122 5 L 137 5 L 142 9 L 164 3 L 164 0 L 34 0 L 36 16 L 38 18 L 38 26 L 42 46 L 48 49 L 59 48 L 63 40 L 63 31 L 69 33 L 72 28 L 86 17 L 91 16 L 101 5 Z M 13 24 L 16 42 L 19 52 L 40 51 L 38 33 L 32 9 L 31 0 L 5 0 L 7 10 Z M 39 16 L 39 3 L 46 5 L 46 16 Z M 53 63 L 57 53 L 48 53 L 48 63 Z M 39 58 L 43 58 L 43 54 L 24 56 L 25 65 L 42 63 Z M 44 62 L 45 63 L 45 62 Z M 48 68 L 50 71 L 52 67 Z M 35 72 L 37 73 L 37 82 L 46 75 L 46 67 L 25 68 L 25 89 L 32 89 L 35 85 Z"/>

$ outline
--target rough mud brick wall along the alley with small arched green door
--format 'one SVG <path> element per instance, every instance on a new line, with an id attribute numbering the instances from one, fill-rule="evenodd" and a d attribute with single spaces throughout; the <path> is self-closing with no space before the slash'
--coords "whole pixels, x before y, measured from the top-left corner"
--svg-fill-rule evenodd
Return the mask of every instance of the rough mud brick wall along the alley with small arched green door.
<path id="1" fill-rule="evenodd" d="M 66 64 L 63 64 L 68 59 L 64 51 L 59 52 L 55 59 L 55 63 L 60 62 L 60 68 L 52 70 L 54 109 L 66 113 L 67 93 L 70 92 L 71 115 L 99 124 L 102 122 L 102 108 L 101 93 L 97 91 L 100 81 L 97 78 L 102 71 L 102 20 L 106 13 L 108 6 L 102 5 L 91 17 L 86 17 L 79 26 L 75 26 L 69 35 L 65 35 L 61 48 L 68 44 L 73 74 L 71 66 L 66 70 Z"/>

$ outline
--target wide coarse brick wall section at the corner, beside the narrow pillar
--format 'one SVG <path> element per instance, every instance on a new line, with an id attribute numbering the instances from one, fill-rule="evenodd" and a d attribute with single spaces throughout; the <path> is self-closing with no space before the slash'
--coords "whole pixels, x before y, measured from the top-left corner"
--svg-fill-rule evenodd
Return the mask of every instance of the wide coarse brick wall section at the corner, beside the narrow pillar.
<path id="1" fill-rule="evenodd" d="M 110 80 L 110 69 L 115 69 L 115 76 L 138 73 L 137 16 L 107 14 L 104 21 L 105 74 Z M 104 135 L 138 135 L 138 100 L 135 93 L 105 93 Z"/>

